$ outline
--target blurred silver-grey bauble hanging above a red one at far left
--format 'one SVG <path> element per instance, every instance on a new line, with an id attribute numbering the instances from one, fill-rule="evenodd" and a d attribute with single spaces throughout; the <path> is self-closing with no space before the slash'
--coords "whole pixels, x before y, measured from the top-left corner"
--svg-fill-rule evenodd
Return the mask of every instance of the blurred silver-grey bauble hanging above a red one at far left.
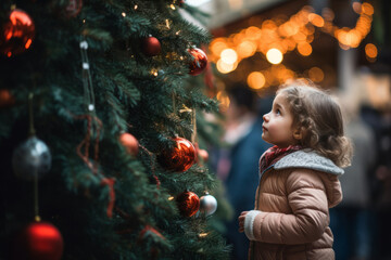
<path id="1" fill-rule="evenodd" d="M 23 180 L 38 179 L 50 170 L 51 154 L 41 140 L 31 136 L 18 145 L 12 156 L 12 166 L 16 177 Z"/>

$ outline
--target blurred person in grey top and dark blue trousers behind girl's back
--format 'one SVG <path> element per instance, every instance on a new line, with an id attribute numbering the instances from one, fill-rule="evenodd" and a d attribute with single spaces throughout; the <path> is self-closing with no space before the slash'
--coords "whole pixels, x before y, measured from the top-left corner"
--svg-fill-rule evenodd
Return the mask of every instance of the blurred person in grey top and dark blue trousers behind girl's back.
<path id="1" fill-rule="evenodd" d="M 373 243 L 374 214 L 370 205 L 370 177 L 376 162 L 375 133 L 360 115 L 360 101 L 353 94 L 341 96 L 345 133 L 354 145 L 352 165 L 340 177 L 343 199 L 330 209 L 336 260 L 367 260 Z"/>

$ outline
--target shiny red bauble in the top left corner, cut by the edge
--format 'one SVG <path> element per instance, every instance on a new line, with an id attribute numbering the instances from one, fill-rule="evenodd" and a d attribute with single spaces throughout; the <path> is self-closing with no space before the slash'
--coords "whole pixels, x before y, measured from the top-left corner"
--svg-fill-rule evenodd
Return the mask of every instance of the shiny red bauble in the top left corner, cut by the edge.
<path id="1" fill-rule="evenodd" d="M 14 9 L 0 31 L 0 52 L 7 56 L 20 54 L 30 48 L 35 36 L 35 24 L 30 16 Z"/>

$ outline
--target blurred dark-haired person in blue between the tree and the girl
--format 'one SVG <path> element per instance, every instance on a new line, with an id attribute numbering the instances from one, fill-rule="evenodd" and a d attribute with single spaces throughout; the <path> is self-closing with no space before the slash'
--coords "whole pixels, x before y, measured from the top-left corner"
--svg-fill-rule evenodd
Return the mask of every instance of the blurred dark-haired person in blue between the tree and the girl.
<path id="1" fill-rule="evenodd" d="M 241 211 L 254 208 L 254 195 L 258 184 L 260 156 L 269 147 L 262 140 L 263 107 L 267 100 L 258 100 L 247 86 L 237 84 L 227 90 L 230 99 L 226 112 L 225 147 L 219 150 L 217 176 L 225 185 L 226 197 L 234 208 L 234 218 L 226 223 L 226 238 L 232 245 L 231 259 L 248 257 L 249 239 L 238 232 L 237 219 Z"/>

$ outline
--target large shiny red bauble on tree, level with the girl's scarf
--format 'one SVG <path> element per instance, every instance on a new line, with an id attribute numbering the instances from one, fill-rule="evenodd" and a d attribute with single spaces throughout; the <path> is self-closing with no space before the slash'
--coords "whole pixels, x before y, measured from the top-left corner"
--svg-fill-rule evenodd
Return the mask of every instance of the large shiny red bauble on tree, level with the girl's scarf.
<path id="1" fill-rule="evenodd" d="M 163 150 L 157 156 L 159 162 L 167 170 L 187 171 L 195 160 L 195 148 L 189 140 L 175 138 L 172 150 Z"/>

